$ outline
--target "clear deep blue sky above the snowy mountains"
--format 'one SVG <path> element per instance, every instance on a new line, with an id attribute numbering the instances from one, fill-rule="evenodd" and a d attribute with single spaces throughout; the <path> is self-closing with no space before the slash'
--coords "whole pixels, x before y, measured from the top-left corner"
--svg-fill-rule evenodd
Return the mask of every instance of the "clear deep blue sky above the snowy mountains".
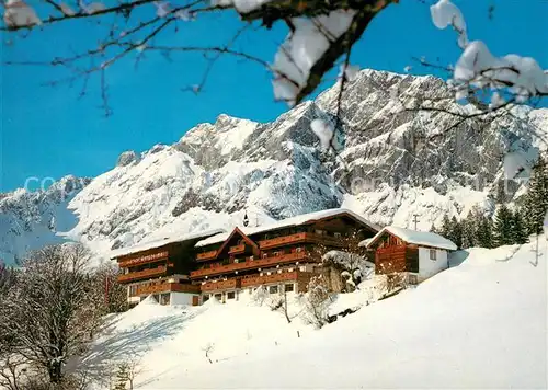
<path id="1" fill-rule="evenodd" d="M 431 1 L 425 2 L 401 0 L 390 5 L 353 49 L 352 62 L 397 72 L 412 65 L 411 72 L 421 74 L 429 69 L 414 64 L 411 57 L 454 62 L 459 54 L 455 35 L 432 25 Z M 548 1 L 455 2 L 465 14 L 470 39 L 483 39 L 495 55 L 535 57 L 548 68 Z M 495 5 L 492 20 L 488 18 L 491 4 Z M 150 5 L 142 12 L 155 9 Z M 176 34 L 159 37 L 156 44 L 219 44 L 239 26 L 235 14 L 215 14 L 185 23 Z M 2 58 L 37 60 L 67 54 L 69 48 L 82 50 L 99 31 L 91 24 L 67 23 L 11 44 L 5 43 L 10 37 L 3 35 Z M 285 33 L 282 27 L 248 33 L 237 48 L 271 61 Z M 110 170 L 122 151 L 174 142 L 187 129 L 215 122 L 221 113 L 267 122 L 287 110 L 285 104 L 274 102 L 270 74 L 264 69 L 229 57 L 217 62 L 202 94 L 181 92 L 181 88 L 199 81 L 204 66 L 199 55 L 178 56 L 172 61 L 148 55 L 137 68 L 133 58 L 118 62 L 107 72 L 114 111 L 109 118 L 100 108 L 96 78 L 90 79 L 87 96 L 79 100 L 81 81 L 72 87 L 41 87 L 68 76 L 61 69 L 2 66 L 0 191 L 22 187 L 27 177 L 95 176 Z M 323 88 L 332 82 L 327 80 Z"/>

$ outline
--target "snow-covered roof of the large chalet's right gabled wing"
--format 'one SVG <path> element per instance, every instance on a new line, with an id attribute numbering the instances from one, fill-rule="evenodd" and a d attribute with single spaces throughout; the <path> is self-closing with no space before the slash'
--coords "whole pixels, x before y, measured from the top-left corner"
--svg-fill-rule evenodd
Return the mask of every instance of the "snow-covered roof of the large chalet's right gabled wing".
<path id="1" fill-rule="evenodd" d="M 276 222 L 269 223 L 269 225 L 263 225 L 263 226 L 258 226 L 258 227 L 247 227 L 247 228 L 246 227 L 238 227 L 238 228 L 246 236 L 251 236 L 251 234 L 256 234 L 256 233 L 261 233 L 261 232 L 265 232 L 265 231 L 270 231 L 270 230 L 275 230 L 275 229 L 281 229 L 281 228 L 287 228 L 287 227 L 292 227 L 292 226 L 305 225 L 305 223 L 312 222 L 312 221 L 318 220 L 318 219 L 334 217 L 334 216 L 339 216 L 339 215 L 342 215 L 342 214 L 350 215 L 354 219 L 358 220 L 361 223 L 363 223 L 363 225 L 372 228 L 375 231 L 379 230 L 379 227 L 376 226 L 375 223 L 369 222 L 368 220 L 366 220 L 365 218 L 363 218 L 359 215 L 355 214 L 354 211 L 351 211 L 351 210 L 345 209 L 345 208 L 330 208 L 330 209 L 327 209 L 327 210 L 321 210 L 321 211 L 316 211 L 316 213 L 309 213 L 309 214 L 302 214 L 300 216 L 282 219 L 282 220 L 278 220 Z M 222 242 L 226 239 L 228 239 L 228 237 L 230 236 L 230 233 L 231 233 L 231 231 L 230 232 L 226 232 L 226 233 L 220 233 L 220 234 L 212 236 L 212 237 L 209 237 L 209 238 L 207 238 L 205 240 L 198 241 L 196 243 L 196 246 L 206 246 L 206 245 L 209 245 L 209 244 Z"/>

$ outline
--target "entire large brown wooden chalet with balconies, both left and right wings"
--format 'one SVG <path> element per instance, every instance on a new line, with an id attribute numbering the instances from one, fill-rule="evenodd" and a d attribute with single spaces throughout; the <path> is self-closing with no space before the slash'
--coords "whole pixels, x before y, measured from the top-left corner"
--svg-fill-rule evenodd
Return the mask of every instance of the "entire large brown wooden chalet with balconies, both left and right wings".
<path id="1" fill-rule="evenodd" d="M 304 291 L 323 253 L 344 248 L 351 234 L 364 240 L 377 231 L 350 210 L 330 209 L 145 243 L 115 251 L 112 259 L 130 303 L 149 295 L 162 305 L 201 305 L 212 297 L 226 302 L 259 286 L 272 294 Z"/>

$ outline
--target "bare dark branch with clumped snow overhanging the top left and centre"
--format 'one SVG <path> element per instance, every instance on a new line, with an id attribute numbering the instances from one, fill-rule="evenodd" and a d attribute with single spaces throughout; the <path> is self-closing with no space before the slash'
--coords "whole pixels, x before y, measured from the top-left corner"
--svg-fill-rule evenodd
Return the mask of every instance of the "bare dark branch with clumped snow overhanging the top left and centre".
<path id="1" fill-rule="evenodd" d="M 55 80 L 48 84 L 72 84 L 83 80 L 81 96 L 85 94 L 90 76 L 98 73 L 101 85 L 101 99 L 105 112 L 107 107 L 106 76 L 107 68 L 126 57 L 134 57 L 136 66 L 148 51 L 158 50 L 168 60 L 172 60 L 172 53 L 202 51 L 207 59 L 204 77 L 198 84 L 182 90 L 198 93 L 203 90 L 205 79 L 209 74 L 213 64 L 221 55 L 232 55 L 264 67 L 272 72 L 274 96 L 289 105 L 298 104 L 313 92 L 322 81 L 324 74 L 336 66 L 338 60 L 346 55 L 346 61 L 341 70 L 342 82 L 352 80 L 357 68 L 349 64 L 350 51 L 354 43 L 381 10 L 398 0 L 334 0 L 323 2 L 318 0 L 195 0 L 190 2 L 163 0 L 134 0 L 119 1 L 85 1 L 78 0 L 76 4 L 57 2 L 56 0 L 38 0 L 35 8 L 23 0 L 7 0 L 3 14 L 4 25 L 0 30 L 18 32 L 27 30 L 41 33 L 53 24 L 66 21 L 85 21 L 96 18 L 105 37 L 99 41 L 95 47 L 84 47 L 73 50 L 69 57 L 54 57 L 49 60 L 5 60 L 7 65 L 44 65 L 66 68 L 71 76 Z M 44 7 L 47 5 L 47 7 Z M 147 7 L 146 7 L 147 5 Z M 152 5 L 152 7 L 151 7 Z M 145 8 L 146 7 L 146 8 Z M 137 10 L 142 9 L 137 15 Z M 281 44 L 277 53 L 273 54 L 273 61 L 258 58 L 242 50 L 233 50 L 230 46 L 235 38 L 218 46 L 195 47 L 167 46 L 159 43 L 159 36 L 165 38 L 169 31 L 179 32 L 181 22 L 191 22 L 212 12 L 236 11 L 244 25 L 271 28 L 274 23 L 285 24 L 289 34 Z M 41 25 L 39 30 L 36 30 Z M 163 34 L 160 34 L 163 33 Z M 28 34 L 25 34 L 26 37 Z M 239 34 L 237 34 L 239 35 Z M 21 37 L 14 35 L 14 37 Z M 172 39 L 171 39 L 172 42 Z M 215 53 L 214 53 L 215 51 Z M 213 59 L 208 56 L 213 53 Z M 341 88 L 342 92 L 343 88 Z"/>

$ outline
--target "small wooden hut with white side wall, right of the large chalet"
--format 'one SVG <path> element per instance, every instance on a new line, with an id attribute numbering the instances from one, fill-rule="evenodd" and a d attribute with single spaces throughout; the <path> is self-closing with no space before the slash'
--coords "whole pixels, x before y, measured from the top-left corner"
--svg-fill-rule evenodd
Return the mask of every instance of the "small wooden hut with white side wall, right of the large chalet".
<path id="1" fill-rule="evenodd" d="M 383 228 L 366 248 L 375 252 L 375 273 L 407 273 L 416 284 L 448 267 L 457 245 L 439 234 L 393 226 Z"/>

